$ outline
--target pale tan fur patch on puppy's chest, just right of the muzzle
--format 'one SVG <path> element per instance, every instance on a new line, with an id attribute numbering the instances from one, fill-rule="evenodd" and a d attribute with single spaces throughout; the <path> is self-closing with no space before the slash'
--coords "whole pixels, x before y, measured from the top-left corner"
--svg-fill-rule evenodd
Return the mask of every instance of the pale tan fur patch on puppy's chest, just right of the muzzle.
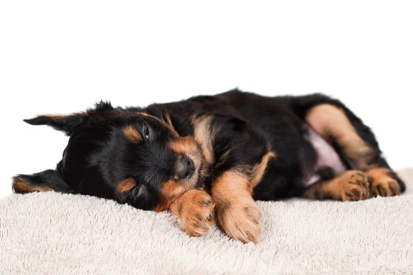
<path id="1" fill-rule="evenodd" d="M 193 120 L 193 135 L 195 140 L 201 144 L 202 153 L 209 164 L 212 164 L 214 160 L 212 140 L 215 135 L 215 129 L 211 127 L 212 119 L 212 115 L 207 115 Z"/>

